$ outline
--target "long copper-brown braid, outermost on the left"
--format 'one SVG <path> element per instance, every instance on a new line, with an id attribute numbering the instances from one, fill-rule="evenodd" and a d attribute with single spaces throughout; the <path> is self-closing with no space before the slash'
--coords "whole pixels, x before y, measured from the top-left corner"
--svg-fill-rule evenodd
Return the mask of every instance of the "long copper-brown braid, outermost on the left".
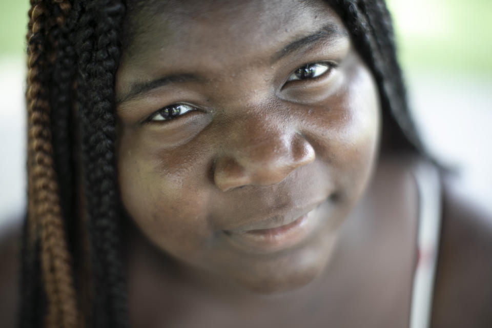
<path id="1" fill-rule="evenodd" d="M 37 238 L 40 242 L 40 264 L 47 298 L 45 324 L 75 327 L 78 320 L 71 259 L 59 204 L 49 117 L 48 72 L 54 47 L 50 33 L 58 17 L 53 15 L 50 3 L 38 1 L 32 2 L 32 6 L 26 93 L 29 115 L 27 230 L 31 243 L 36 243 Z"/>

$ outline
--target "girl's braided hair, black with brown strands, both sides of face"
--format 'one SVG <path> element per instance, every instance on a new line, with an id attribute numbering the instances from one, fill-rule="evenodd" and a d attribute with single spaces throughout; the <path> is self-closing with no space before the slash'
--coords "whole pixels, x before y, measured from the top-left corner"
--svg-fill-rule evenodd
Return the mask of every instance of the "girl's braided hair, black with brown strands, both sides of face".
<path id="1" fill-rule="evenodd" d="M 375 76 L 382 140 L 424 154 L 383 0 L 328 1 Z M 129 326 L 114 117 L 126 8 L 125 0 L 31 0 L 23 328 Z"/>

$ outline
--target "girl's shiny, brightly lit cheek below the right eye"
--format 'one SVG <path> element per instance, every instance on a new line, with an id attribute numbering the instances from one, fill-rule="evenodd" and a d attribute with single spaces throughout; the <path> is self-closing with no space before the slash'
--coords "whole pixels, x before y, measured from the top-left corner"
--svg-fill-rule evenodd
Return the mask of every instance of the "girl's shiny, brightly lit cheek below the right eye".
<path id="1" fill-rule="evenodd" d="M 316 157 L 328 163 L 337 189 L 356 200 L 371 176 L 380 135 L 380 104 L 372 74 L 351 65 L 344 86 L 315 108 L 310 138 Z"/>

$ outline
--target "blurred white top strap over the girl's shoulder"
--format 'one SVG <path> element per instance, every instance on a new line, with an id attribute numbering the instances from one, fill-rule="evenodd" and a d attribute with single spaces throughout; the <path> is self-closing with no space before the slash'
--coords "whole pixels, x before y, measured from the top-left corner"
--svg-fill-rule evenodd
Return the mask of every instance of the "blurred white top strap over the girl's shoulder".
<path id="1" fill-rule="evenodd" d="M 409 328 L 428 328 L 441 230 L 441 183 L 438 169 L 428 162 L 419 162 L 414 176 L 419 199 L 418 260 L 413 279 Z"/>

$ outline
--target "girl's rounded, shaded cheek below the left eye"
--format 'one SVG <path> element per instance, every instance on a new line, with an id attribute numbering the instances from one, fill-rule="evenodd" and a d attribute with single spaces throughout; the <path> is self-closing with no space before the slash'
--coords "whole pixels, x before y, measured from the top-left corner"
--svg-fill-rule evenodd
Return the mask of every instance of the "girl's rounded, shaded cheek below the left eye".
<path id="1" fill-rule="evenodd" d="M 208 194 L 201 188 L 207 163 L 194 152 L 166 150 L 166 156 L 145 135 L 123 129 L 118 152 L 122 203 L 140 230 L 160 249 L 175 256 L 193 256 L 213 237 L 208 223 Z M 151 148 L 151 149 L 149 149 Z M 163 159 L 165 158 L 165 159 Z"/>

